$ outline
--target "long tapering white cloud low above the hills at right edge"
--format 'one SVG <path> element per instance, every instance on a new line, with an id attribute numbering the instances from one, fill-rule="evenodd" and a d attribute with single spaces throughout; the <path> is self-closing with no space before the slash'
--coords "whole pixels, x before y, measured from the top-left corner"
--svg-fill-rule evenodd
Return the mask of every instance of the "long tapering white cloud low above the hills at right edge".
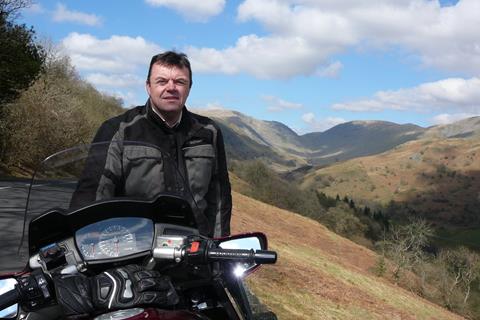
<path id="1" fill-rule="evenodd" d="M 382 111 L 410 110 L 416 112 L 458 110 L 462 113 L 480 111 L 480 78 L 449 78 L 400 90 L 379 91 L 370 99 L 337 103 L 337 110 Z"/>

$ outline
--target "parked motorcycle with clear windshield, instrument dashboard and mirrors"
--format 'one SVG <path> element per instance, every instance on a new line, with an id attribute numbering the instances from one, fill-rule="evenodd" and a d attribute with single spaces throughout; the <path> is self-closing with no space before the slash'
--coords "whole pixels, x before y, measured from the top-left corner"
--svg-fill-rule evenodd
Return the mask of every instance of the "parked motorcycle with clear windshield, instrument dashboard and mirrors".
<path id="1" fill-rule="evenodd" d="M 276 262 L 277 254 L 267 250 L 266 236 L 253 232 L 212 239 L 202 234 L 198 199 L 185 177 L 188 172 L 182 173 L 158 146 L 122 141 L 122 150 L 142 150 L 141 157 L 127 159 L 128 163 L 123 157 L 122 170 L 125 174 L 135 170 L 139 160 L 176 168 L 174 190 L 154 197 L 75 200 L 85 177 L 103 168 L 102 159 L 112 144 L 58 152 L 33 174 L 18 254 L 0 260 L 20 259 L 26 267 L 0 275 L 0 318 L 61 319 L 52 288 L 54 275 L 93 276 L 136 264 L 168 276 L 176 303 L 98 311 L 92 316 L 95 320 L 276 319 L 268 311 L 254 314 L 251 294 L 242 281 L 262 264 Z"/>

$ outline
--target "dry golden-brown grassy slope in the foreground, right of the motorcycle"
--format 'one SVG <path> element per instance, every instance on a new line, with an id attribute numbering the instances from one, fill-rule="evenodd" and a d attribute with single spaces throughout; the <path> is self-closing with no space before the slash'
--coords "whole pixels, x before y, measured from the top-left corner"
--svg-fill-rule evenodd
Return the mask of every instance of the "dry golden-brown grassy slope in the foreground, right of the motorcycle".
<path id="1" fill-rule="evenodd" d="M 461 319 L 373 276 L 374 252 L 300 215 L 233 193 L 232 232 L 265 232 L 276 265 L 249 279 L 279 319 Z"/>

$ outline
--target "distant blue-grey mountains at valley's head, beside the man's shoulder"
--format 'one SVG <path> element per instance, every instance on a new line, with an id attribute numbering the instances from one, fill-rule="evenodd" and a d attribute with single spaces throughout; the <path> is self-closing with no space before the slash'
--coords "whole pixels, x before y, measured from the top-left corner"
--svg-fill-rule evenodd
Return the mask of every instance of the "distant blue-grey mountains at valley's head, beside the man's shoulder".
<path id="1" fill-rule="evenodd" d="M 370 155 L 414 140 L 426 129 L 386 121 L 352 121 L 325 132 L 298 135 L 276 121 L 262 121 L 240 112 L 195 110 L 215 119 L 224 132 L 231 159 L 263 159 L 278 171 Z"/>

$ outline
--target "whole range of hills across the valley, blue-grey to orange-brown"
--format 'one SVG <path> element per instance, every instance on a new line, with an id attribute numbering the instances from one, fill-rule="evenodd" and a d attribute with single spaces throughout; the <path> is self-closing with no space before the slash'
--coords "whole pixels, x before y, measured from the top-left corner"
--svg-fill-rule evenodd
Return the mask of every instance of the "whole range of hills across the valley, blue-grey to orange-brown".
<path id="1" fill-rule="evenodd" d="M 202 112 L 221 125 L 231 162 L 262 161 L 303 190 L 347 196 L 392 218 L 480 226 L 480 117 L 430 128 L 352 121 L 298 135 L 236 111 Z"/>

